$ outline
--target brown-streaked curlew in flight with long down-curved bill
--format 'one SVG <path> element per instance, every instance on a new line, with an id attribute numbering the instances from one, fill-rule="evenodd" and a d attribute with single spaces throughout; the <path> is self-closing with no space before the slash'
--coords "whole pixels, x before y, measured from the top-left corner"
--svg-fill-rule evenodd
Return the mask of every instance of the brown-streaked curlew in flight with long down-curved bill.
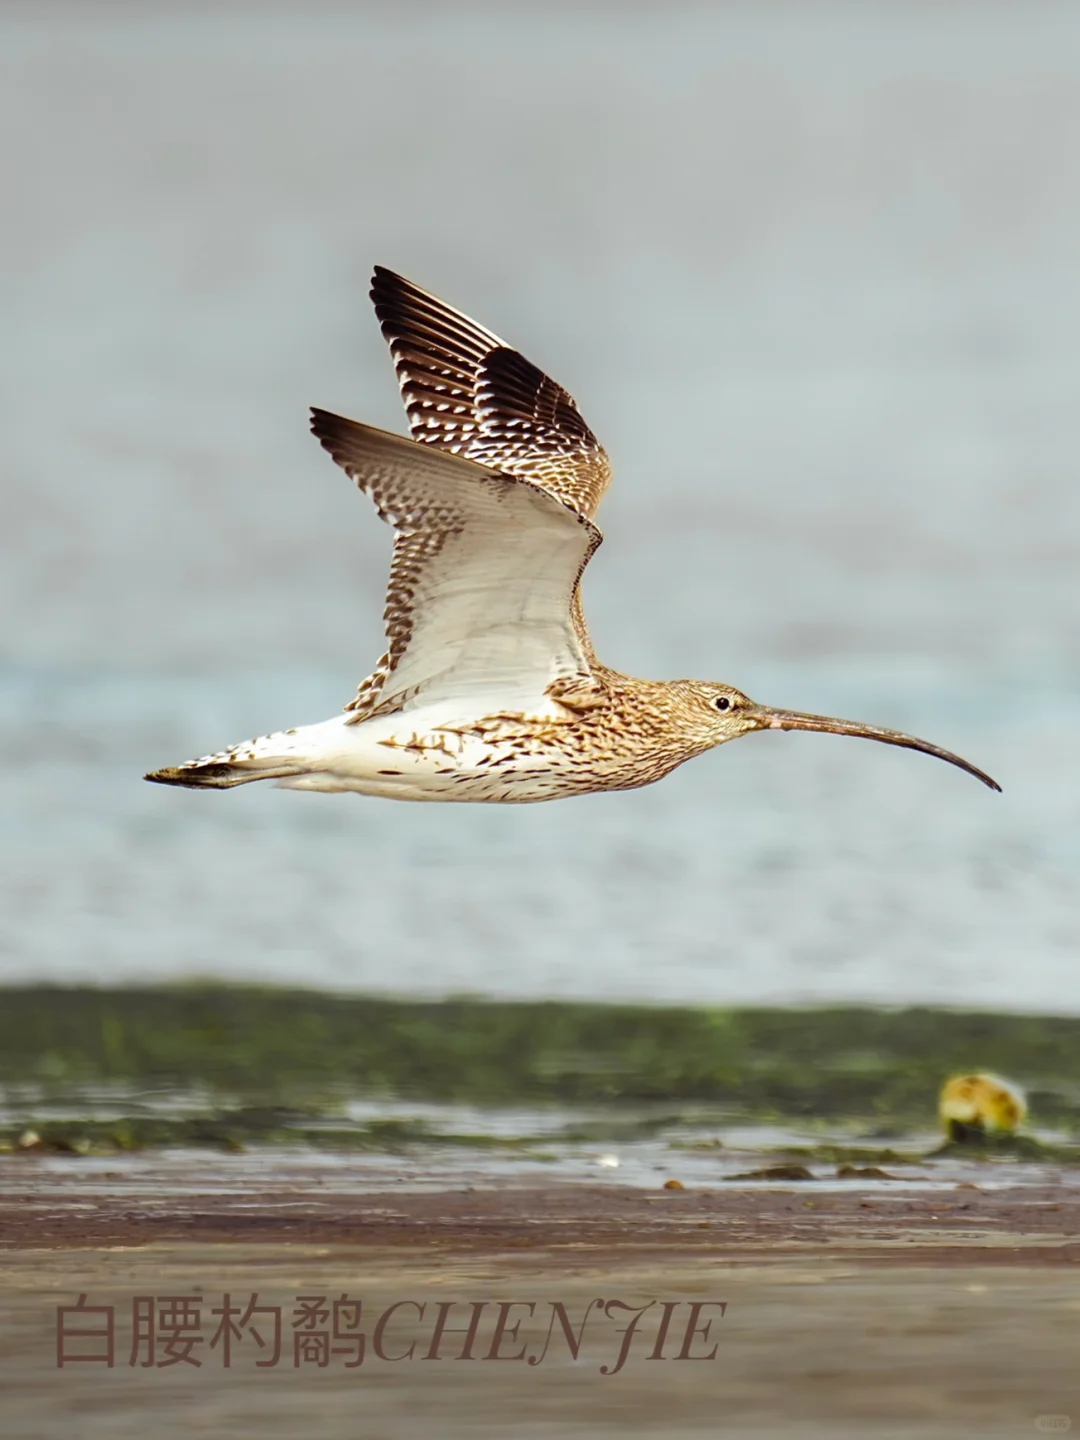
<path id="1" fill-rule="evenodd" d="M 636 680 L 593 651 L 580 582 L 611 462 L 562 386 L 490 330 L 377 266 L 372 300 L 412 439 L 314 409 L 323 448 L 393 528 L 386 652 L 343 714 L 145 776 L 406 801 L 626 791 L 755 730 L 881 726 L 757 704 L 711 680 Z"/>

